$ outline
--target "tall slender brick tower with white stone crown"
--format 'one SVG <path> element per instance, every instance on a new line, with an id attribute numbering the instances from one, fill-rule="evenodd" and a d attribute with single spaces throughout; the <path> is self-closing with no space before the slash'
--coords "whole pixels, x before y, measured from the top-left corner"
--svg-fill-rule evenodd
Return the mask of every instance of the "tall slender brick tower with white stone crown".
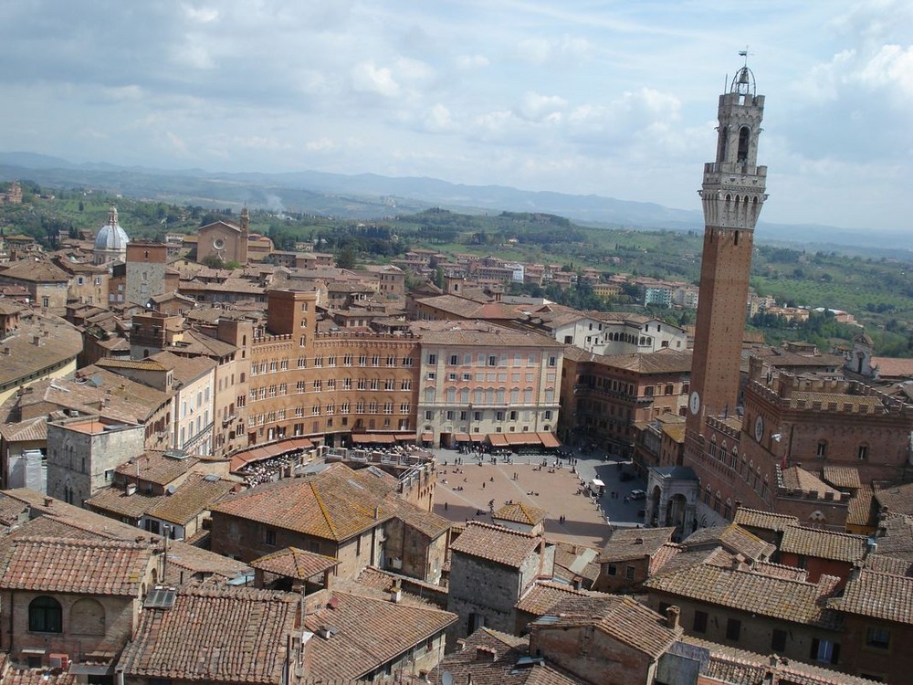
<path id="1" fill-rule="evenodd" d="M 754 75 L 739 69 L 719 96 L 717 159 L 704 164 L 704 252 L 691 366 L 687 432 L 703 432 L 705 416 L 734 415 L 748 302 L 754 227 L 767 198 L 767 167 L 758 166 L 764 96 Z"/>

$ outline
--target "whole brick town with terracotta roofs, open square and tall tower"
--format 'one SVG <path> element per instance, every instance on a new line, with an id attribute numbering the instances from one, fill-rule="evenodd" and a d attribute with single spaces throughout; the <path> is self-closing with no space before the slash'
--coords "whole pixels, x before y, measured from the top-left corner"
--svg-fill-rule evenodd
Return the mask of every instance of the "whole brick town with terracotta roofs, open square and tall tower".
<path id="1" fill-rule="evenodd" d="M 71 191 L 11 180 L 2 681 L 908 682 L 913 359 L 750 288 L 764 105 L 719 95 L 698 286 L 247 206 L 37 237 Z"/>

